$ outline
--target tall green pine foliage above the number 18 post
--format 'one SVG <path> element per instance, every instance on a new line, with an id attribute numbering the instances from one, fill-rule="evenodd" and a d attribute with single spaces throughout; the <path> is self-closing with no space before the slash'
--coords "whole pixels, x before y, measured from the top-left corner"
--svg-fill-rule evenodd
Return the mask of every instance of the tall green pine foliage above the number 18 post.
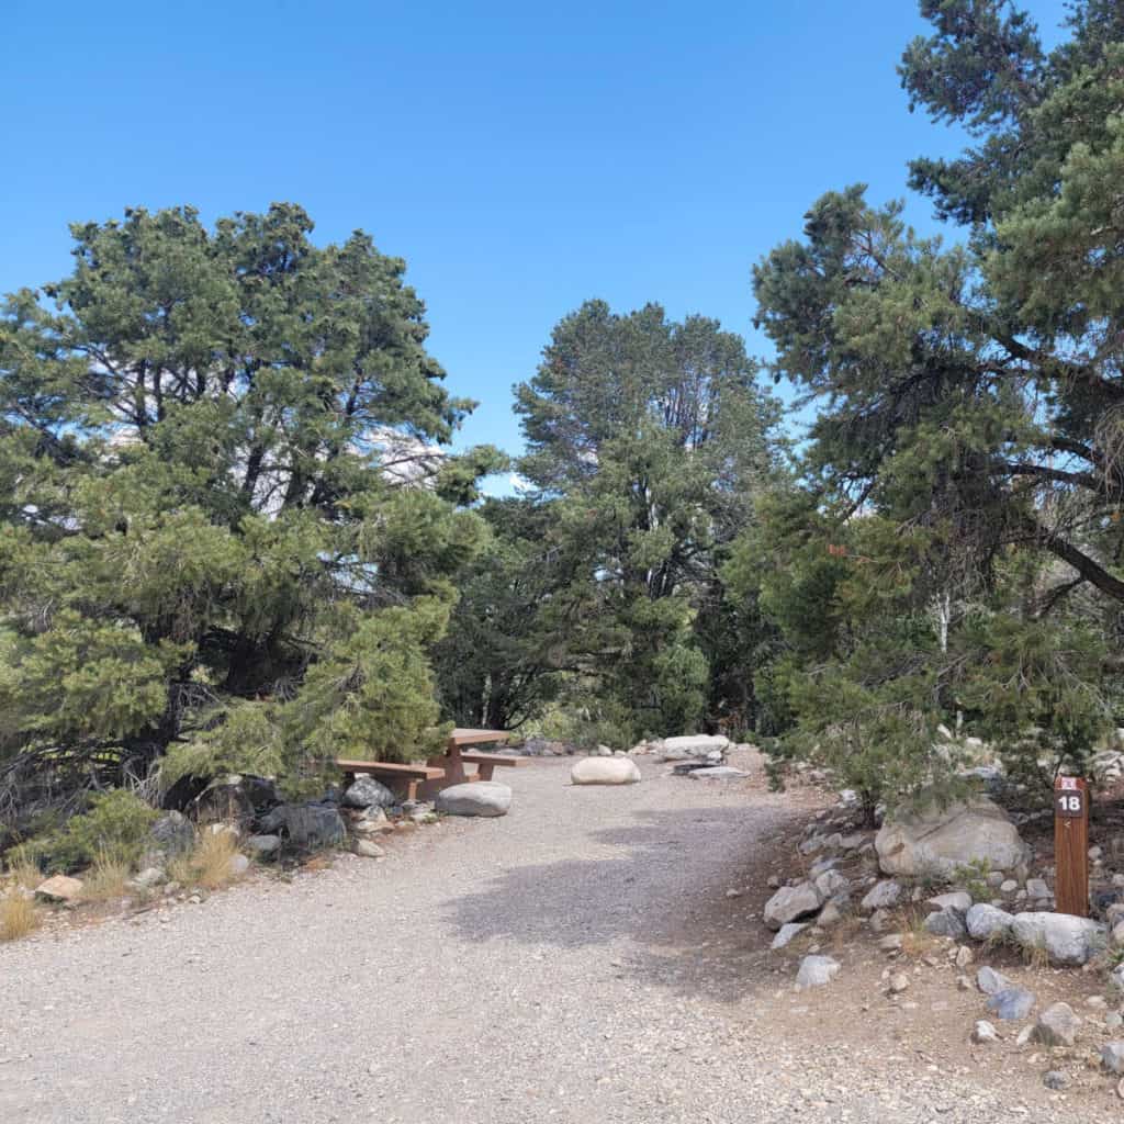
<path id="1" fill-rule="evenodd" d="M 903 83 L 975 143 L 912 182 L 969 236 L 921 238 L 855 185 L 759 263 L 773 372 L 819 408 L 801 487 L 726 571 L 781 632 L 758 672 L 781 752 L 868 809 L 955 780 L 940 723 L 1043 780 L 1120 709 L 1124 20 L 1078 3 L 1048 53 L 1001 0 L 921 9 Z"/>

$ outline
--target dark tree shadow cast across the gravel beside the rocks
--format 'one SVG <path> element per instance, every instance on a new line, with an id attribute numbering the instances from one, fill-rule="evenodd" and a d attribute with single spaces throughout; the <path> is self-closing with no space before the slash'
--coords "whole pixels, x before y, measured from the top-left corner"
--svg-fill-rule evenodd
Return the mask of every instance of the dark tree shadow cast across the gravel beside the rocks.
<path id="1" fill-rule="evenodd" d="M 772 933 L 760 922 L 765 863 L 788 821 L 800 822 L 798 812 L 770 810 L 760 832 L 747 812 L 638 813 L 633 825 L 589 836 L 629 854 L 516 868 L 450 900 L 446 921 L 470 941 L 586 949 L 627 939 L 617 972 L 736 1001 L 771 977 Z M 729 887 L 742 896 L 727 898 Z"/>

